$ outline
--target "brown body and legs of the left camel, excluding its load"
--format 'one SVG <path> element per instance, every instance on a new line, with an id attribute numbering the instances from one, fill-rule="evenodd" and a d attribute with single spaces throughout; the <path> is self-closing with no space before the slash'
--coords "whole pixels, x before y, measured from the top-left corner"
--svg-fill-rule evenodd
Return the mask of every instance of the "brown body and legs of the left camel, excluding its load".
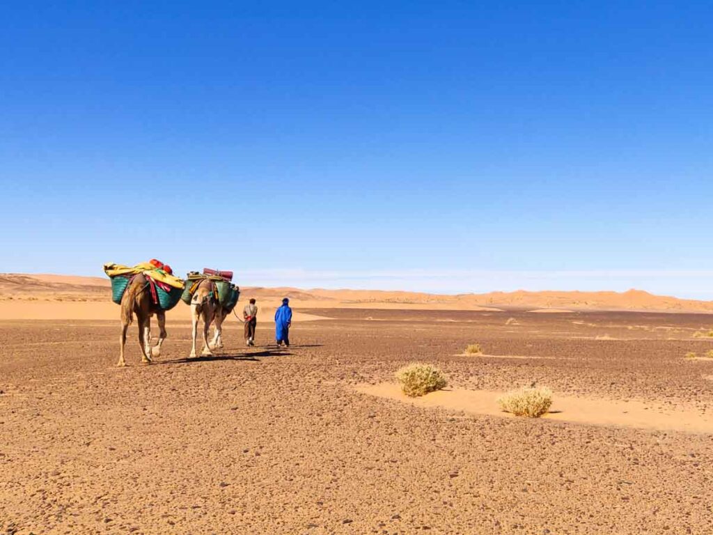
<path id="1" fill-rule="evenodd" d="M 150 290 L 146 284 L 147 280 L 143 274 L 136 275 L 126 288 L 121 297 L 121 352 L 119 354 L 118 366 L 125 366 L 124 345 L 126 343 L 126 330 L 136 315 L 138 321 L 138 343 L 141 347 L 141 362 L 150 364 L 151 357 L 158 357 L 161 352 L 161 344 L 166 338 L 166 313 L 161 310 L 157 303 L 151 299 Z M 151 316 L 156 315 L 160 335 L 158 344 L 151 347 Z"/>

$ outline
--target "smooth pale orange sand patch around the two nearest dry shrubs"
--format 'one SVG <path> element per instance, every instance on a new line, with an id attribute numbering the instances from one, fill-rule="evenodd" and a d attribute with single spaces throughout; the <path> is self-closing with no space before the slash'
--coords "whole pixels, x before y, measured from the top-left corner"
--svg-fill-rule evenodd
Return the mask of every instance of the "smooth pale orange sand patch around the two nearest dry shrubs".
<path id="1" fill-rule="evenodd" d="M 431 392 L 424 397 L 406 397 L 398 384 L 362 384 L 359 392 L 372 396 L 397 399 L 418 407 L 441 407 L 468 414 L 487 414 L 515 418 L 502 412 L 497 399 L 503 392 L 491 390 L 452 389 Z M 713 433 L 713 417 L 693 410 L 657 407 L 653 403 L 615 401 L 555 394 L 553 406 L 543 419 L 590 424 L 603 427 L 634 427 L 657 431 Z"/>

